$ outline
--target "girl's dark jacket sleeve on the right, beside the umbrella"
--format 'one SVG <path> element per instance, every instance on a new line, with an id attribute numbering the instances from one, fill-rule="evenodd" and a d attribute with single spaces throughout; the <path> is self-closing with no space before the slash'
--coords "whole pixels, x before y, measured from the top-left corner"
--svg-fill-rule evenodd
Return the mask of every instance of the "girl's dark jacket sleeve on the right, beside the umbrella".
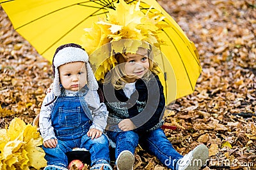
<path id="1" fill-rule="evenodd" d="M 147 104 L 143 111 L 131 120 L 137 127 L 135 132 L 145 132 L 157 125 L 163 118 L 165 98 L 163 93 L 163 85 L 158 76 L 155 81 L 150 81 L 148 87 Z"/>

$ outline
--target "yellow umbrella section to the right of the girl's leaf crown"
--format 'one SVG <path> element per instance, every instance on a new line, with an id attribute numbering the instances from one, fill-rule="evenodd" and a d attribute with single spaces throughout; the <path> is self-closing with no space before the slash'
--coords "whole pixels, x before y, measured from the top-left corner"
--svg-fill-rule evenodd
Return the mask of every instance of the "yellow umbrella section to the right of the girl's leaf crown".
<path id="1" fill-rule="evenodd" d="M 172 102 L 195 90 L 202 68 L 193 42 L 189 41 L 175 20 L 156 1 L 152 1 L 151 5 L 161 11 L 166 17 L 164 21 L 171 25 L 159 32 L 159 37 L 166 42 L 166 45 L 161 46 L 166 57 L 166 60 L 163 59 L 166 66 L 161 67 L 165 78 L 160 76 L 160 80 L 166 84 L 166 99 Z M 157 62 L 160 63 L 159 60 Z"/>

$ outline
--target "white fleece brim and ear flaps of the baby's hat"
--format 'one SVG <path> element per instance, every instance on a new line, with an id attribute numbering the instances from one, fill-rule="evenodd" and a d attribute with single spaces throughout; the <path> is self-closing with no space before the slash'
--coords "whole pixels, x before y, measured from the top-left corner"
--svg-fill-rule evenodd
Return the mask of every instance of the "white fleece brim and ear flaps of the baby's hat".
<path id="1" fill-rule="evenodd" d="M 87 85 L 88 89 L 90 90 L 97 90 L 99 88 L 96 78 L 93 74 L 92 67 L 88 62 L 89 56 L 83 50 L 83 48 L 77 48 L 73 46 L 67 46 L 62 48 L 59 51 L 56 51 L 54 55 L 54 59 L 52 60 L 52 66 L 54 68 L 54 80 L 53 80 L 53 93 L 54 96 L 60 96 L 61 89 L 60 89 L 60 76 L 58 67 L 63 64 L 67 64 L 70 62 L 85 62 L 86 63 L 86 70 L 87 70 Z"/>

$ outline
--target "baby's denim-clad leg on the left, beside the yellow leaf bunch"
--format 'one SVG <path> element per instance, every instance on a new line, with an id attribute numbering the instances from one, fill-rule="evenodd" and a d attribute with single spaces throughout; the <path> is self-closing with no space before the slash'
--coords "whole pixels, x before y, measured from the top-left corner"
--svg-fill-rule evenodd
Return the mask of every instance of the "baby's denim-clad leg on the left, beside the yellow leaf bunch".
<path id="1" fill-rule="evenodd" d="M 60 166 L 60 167 L 68 167 L 68 159 L 66 152 L 72 151 L 72 149 L 68 146 L 68 143 L 65 141 L 58 140 L 58 145 L 56 148 L 45 148 L 43 146 L 45 152 L 45 159 L 47 160 L 48 166 Z"/>

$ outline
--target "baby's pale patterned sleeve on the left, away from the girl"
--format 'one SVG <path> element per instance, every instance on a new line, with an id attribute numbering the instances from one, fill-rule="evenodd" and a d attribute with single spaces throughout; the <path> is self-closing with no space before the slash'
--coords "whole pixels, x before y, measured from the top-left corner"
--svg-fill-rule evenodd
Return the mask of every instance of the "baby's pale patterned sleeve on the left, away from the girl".
<path id="1" fill-rule="evenodd" d="M 54 103 L 49 104 L 48 106 L 45 106 L 45 104 L 50 103 L 54 99 L 53 92 L 50 92 L 47 94 L 44 98 L 44 101 L 41 106 L 40 110 L 40 116 L 39 116 L 39 129 L 42 138 L 44 141 L 47 141 L 49 139 L 57 139 L 54 134 L 54 129 L 52 127 L 52 121 L 51 121 L 51 111 L 54 106 Z"/>

